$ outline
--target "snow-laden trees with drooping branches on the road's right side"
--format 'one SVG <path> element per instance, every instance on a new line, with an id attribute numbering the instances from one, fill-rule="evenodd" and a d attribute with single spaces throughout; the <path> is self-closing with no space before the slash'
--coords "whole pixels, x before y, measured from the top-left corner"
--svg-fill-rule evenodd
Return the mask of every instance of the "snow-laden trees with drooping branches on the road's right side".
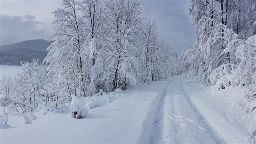
<path id="1" fill-rule="evenodd" d="M 246 112 L 252 115 L 249 131 L 254 142 L 255 12 L 254 1 L 250 0 L 191 0 L 190 13 L 197 26 L 197 41 L 193 49 L 179 57 L 183 71 L 200 83 L 223 89 L 247 88 Z"/>

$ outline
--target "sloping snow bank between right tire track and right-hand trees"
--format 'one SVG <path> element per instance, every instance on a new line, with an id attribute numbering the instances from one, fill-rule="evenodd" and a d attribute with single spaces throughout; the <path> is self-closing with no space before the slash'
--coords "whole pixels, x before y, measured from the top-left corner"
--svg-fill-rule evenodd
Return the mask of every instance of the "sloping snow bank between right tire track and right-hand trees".
<path id="1" fill-rule="evenodd" d="M 246 143 L 248 140 L 248 116 L 242 106 L 245 90 L 229 87 L 215 90 L 213 87 L 184 84 L 184 90 L 205 116 L 215 132 L 227 143 Z"/>

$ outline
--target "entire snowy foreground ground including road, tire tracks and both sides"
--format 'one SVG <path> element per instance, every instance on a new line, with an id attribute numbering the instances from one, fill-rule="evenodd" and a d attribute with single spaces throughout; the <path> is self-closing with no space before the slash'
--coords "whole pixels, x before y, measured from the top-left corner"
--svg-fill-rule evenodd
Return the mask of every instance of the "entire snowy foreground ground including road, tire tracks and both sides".
<path id="1" fill-rule="evenodd" d="M 171 77 L 130 88 L 84 119 L 69 113 L 9 116 L 1 143 L 246 143 L 247 115 L 239 88 L 214 90 Z"/>

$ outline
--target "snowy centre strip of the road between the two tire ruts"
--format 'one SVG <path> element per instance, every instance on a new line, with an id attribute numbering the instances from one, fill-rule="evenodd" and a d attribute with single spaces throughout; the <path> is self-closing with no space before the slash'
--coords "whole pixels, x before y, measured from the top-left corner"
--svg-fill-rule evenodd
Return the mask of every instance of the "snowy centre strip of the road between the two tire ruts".
<path id="1" fill-rule="evenodd" d="M 204 116 L 185 94 L 181 79 L 181 76 L 174 77 L 167 88 L 163 135 L 158 139 L 164 143 L 221 142 Z"/>

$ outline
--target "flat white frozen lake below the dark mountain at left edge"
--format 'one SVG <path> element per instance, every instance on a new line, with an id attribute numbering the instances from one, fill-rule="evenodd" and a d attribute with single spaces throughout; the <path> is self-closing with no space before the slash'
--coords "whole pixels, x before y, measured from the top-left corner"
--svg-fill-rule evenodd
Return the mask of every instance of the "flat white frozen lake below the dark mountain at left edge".
<path id="1" fill-rule="evenodd" d="M 21 66 L 17 65 L 0 65 L 0 79 L 3 76 L 15 76 L 15 74 L 21 71 Z"/>

